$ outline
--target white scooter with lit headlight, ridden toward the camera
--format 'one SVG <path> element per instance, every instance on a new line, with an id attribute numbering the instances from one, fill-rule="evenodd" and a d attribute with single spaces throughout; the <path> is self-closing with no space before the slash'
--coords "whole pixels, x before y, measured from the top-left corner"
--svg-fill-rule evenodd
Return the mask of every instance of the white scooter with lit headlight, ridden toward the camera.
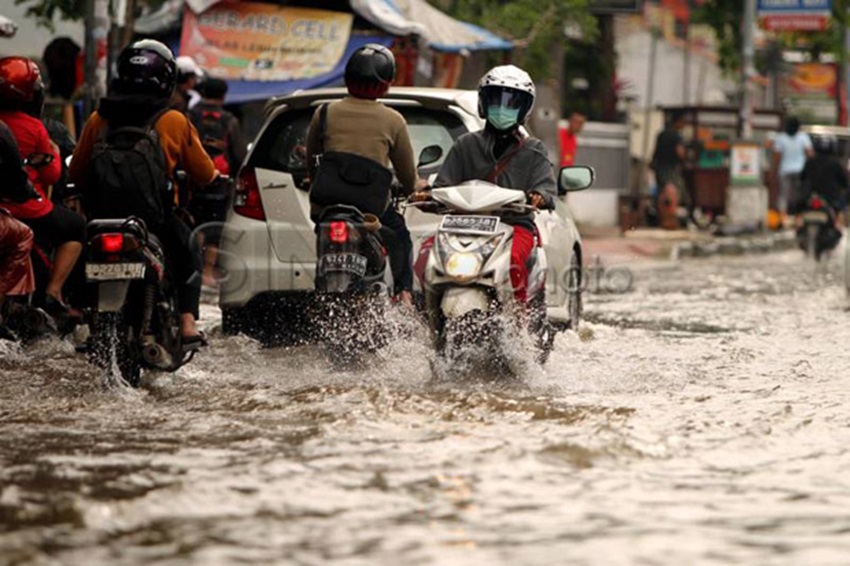
<path id="1" fill-rule="evenodd" d="M 592 171 L 583 168 L 580 172 L 586 178 L 574 179 L 573 183 L 589 186 Z M 433 245 L 425 252 L 424 269 L 417 274 L 438 354 L 451 357 L 458 349 L 475 346 L 498 356 L 505 342 L 513 341 L 522 322 L 527 321 L 538 348 L 538 361 L 543 363 L 548 358 L 555 329 L 546 316 L 544 248 L 535 245 L 529 258 L 524 307 L 516 304 L 510 279 L 514 229 L 506 220 L 535 213 L 526 199 L 521 190 L 468 181 L 433 189 L 431 200 L 410 203 L 423 212 L 443 216 Z"/>

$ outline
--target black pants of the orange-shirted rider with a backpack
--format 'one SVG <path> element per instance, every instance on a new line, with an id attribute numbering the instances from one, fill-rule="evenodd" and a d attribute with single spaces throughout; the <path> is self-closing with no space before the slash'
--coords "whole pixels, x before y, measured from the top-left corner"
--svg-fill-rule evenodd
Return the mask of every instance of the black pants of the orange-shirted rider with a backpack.
<path id="1" fill-rule="evenodd" d="M 185 222 L 173 213 L 154 233 L 165 250 L 166 267 L 177 287 L 177 302 L 181 313 L 200 317 L 201 273 L 203 261 L 201 250 L 192 238 L 192 231 Z"/>

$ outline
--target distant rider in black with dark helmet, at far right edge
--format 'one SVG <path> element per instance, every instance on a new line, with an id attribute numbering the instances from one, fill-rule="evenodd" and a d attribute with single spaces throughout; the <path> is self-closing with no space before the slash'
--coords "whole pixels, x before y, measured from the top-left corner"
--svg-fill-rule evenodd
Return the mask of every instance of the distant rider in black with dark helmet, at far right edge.
<path id="1" fill-rule="evenodd" d="M 842 218 L 847 208 L 850 179 L 847 176 L 847 163 L 842 162 L 838 153 L 838 140 L 833 136 L 812 137 L 815 155 L 806 161 L 800 174 L 800 198 L 789 205 L 791 212 L 798 212 L 812 193 L 819 194 L 836 211 L 837 223 L 843 225 Z"/>

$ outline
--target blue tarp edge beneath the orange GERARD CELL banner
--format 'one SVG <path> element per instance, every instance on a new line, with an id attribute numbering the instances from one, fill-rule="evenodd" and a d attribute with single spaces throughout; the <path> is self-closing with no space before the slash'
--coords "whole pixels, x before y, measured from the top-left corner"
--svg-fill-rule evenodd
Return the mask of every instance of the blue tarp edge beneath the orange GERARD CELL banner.
<path id="1" fill-rule="evenodd" d="M 390 46 L 393 39 L 386 36 L 352 35 L 348 40 L 345 53 L 329 73 L 309 79 L 294 81 L 227 81 L 227 104 L 241 104 L 255 100 L 266 100 L 272 96 L 282 96 L 296 90 L 322 88 L 342 85 L 345 63 L 352 53 L 367 43 L 380 43 Z"/>

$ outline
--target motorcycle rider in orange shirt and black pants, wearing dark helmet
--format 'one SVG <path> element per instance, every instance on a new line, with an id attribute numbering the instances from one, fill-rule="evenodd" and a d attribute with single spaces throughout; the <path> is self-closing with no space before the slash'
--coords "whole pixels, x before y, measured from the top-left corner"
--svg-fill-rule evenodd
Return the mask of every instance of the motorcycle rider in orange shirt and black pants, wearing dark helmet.
<path id="1" fill-rule="evenodd" d="M 121 51 L 117 75 L 111 85 L 112 92 L 100 101 L 97 111 L 83 127 L 71 161 L 69 176 L 78 186 L 83 187 L 83 194 L 87 166 L 94 145 L 104 129 L 142 127 L 157 114 L 160 115 L 154 130 L 170 174 L 182 169 L 190 181 L 199 187 L 205 187 L 218 178 L 218 171 L 186 115 L 176 110 L 164 111 L 174 93 L 176 77 L 174 55 L 158 41 L 144 39 Z M 179 207 L 182 203 L 179 202 L 178 191 L 174 192 L 174 198 L 175 208 Z M 165 222 L 155 233 L 162 242 L 171 264 L 169 268 L 175 277 L 184 344 L 204 344 L 205 338 L 196 327 L 201 295 L 200 273 L 203 268 L 189 227 L 174 210 L 170 210 Z"/>

